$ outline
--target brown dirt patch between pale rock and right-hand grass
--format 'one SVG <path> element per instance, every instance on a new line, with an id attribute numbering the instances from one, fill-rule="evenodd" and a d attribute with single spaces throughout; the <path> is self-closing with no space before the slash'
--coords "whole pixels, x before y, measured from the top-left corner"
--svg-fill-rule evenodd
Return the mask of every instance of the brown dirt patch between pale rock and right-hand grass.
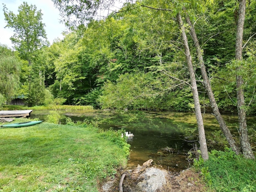
<path id="1" fill-rule="evenodd" d="M 168 182 L 158 192 L 204 192 L 206 186 L 199 173 L 187 169 L 180 173 L 169 173 Z"/>

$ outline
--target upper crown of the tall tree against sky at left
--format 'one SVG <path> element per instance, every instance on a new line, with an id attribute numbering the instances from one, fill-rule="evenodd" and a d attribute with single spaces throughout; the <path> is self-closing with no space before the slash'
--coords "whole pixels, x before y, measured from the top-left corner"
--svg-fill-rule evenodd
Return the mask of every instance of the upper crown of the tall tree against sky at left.
<path id="1" fill-rule="evenodd" d="M 18 14 L 8 8 L 3 8 L 6 27 L 14 30 L 14 35 L 10 38 L 14 48 L 20 53 L 20 57 L 27 60 L 29 65 L 33 60 L 34 52 L 44 45 L 46 40 L 45 24 L 42 23 L 41 10 L 36 10 L 36 6 L 23 2 L 18 8 Z"/>

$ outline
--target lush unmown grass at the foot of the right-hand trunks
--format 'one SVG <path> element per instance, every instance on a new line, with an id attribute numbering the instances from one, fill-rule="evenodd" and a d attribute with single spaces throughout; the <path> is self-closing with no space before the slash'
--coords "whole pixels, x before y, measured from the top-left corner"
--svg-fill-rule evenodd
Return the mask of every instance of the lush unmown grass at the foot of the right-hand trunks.
<path id="1" fill-rule="evenodd" d="M 209 160 L 195 162 L 212 191 L 256 191 L 256 161 L 237 156 L 232 150 L 212 150 Z"/>

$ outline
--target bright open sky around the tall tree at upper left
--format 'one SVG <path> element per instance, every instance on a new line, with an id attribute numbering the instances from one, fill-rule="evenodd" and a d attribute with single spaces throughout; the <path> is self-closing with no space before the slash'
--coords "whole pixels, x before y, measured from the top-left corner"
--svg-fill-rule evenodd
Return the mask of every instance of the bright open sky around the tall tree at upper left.
<path id="1" fill-rule="evenodd" d="M 56 38 L 63 38 L 62 32 L 66 31 L 64 24 L 60 24 L 61 16 L 59 11 L 54 7 L 51 0 L 0 0 L 0 44 L 5 44 L 9 48 L 12 48 L 12 42 L 10 37 L 13 35 L 12 28 L 4 28 L 6 21 L 4 20 L 3 4 L 6 5 L 8 11 L 18 14 L 18 7 L 27 2 L 28 5 L 36 5 L 36 10 L 40 10 L 43 14 L 42 22 L 45 24 L 47 38 L 50 44 L 53 43 Z"/>

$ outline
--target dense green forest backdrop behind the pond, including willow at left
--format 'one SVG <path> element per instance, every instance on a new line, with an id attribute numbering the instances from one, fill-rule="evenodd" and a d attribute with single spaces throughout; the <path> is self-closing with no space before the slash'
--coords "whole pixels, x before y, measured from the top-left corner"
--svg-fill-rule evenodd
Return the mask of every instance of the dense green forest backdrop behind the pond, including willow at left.
<path id="1" fill-rule="evenodd" d="M 243 59 L 239 62 L 235 60 L 239 2 L 189 2 L 181 16 L 202 110 L 211 112 L 211 105 L 190 24 L 197 34 L 219 109 L 237 112 L 236 76 L 240 75 L 246 112 L 255 114 L 256 1 L 246 2 Z M 90 19 L 86 25 L 70 27 L 64 39 L 56 39 L 52 45 L 47 41 L 42 13 L 35 6 L 24 2 L 17 16 L 4 7 L 7 27 L 14 28 L 16 35 L 11 38 L 14 50 L 0 45 L 0 103 L 22 95 L 28 106 L 193 111 L 184 43 L 174 7 L 147 0 L 127 3 L 105 19 Z M 28 26 L 21 28 L 19 22 L 24 20 Z"/>

